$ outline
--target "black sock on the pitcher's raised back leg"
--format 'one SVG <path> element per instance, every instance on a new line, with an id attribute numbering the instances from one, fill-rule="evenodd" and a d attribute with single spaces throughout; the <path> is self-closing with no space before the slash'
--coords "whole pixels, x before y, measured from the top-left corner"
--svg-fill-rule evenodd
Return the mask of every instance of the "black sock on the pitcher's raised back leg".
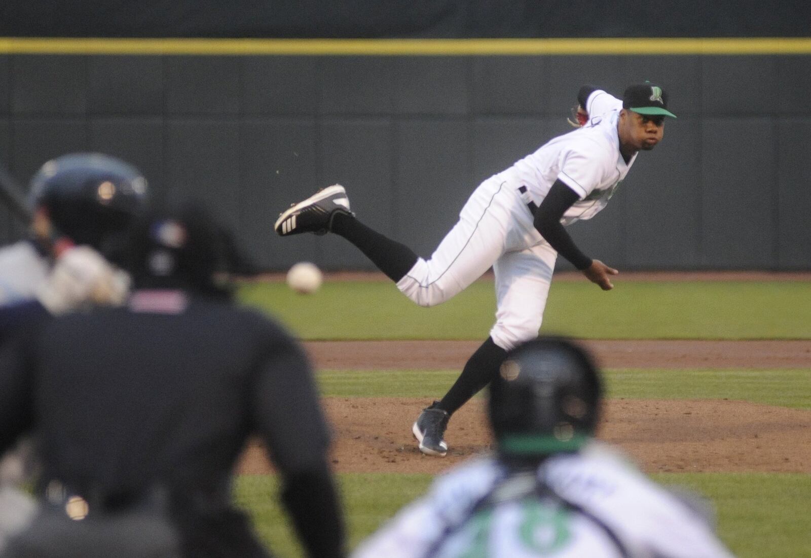
<path id="1" fill-rule="evenodd" d="M 336 212 L 329 230 L 358 247 L 372 264 L 395 283 L 417 263 L 417 255 L 410 247 L 371 230 L 347 213 Z"/>

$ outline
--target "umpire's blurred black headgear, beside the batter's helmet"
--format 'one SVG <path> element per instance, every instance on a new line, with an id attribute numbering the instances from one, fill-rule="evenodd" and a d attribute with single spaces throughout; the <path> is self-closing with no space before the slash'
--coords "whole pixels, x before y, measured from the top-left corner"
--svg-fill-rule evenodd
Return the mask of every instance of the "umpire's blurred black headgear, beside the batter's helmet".
<path id="1" fill-rule="evenodd" d="M 234 272 L 234 238 L 198 200 L 172 200 L 143 212 L 115 258 L 135 289 L 225 295 Z"/>

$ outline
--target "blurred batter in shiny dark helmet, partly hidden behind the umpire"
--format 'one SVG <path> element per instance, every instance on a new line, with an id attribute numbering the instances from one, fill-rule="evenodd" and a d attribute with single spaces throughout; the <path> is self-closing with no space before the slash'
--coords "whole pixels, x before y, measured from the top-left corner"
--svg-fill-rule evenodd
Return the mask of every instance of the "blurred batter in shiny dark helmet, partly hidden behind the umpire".
<path id="1" fill-rule="evenodd" d="M 146 195 L 139 170 L 101 153 L 71 153 L 42 166 L 31 181 L 30 237 L 0 249 L 0 345 L 51 315 L 123 302 L 127 274 L 101 252 L 118 242 Z M 33 453 L 27 439 L 0 459 L 0 550 L 35 511 L 18 489 L 32 472 Z"/>

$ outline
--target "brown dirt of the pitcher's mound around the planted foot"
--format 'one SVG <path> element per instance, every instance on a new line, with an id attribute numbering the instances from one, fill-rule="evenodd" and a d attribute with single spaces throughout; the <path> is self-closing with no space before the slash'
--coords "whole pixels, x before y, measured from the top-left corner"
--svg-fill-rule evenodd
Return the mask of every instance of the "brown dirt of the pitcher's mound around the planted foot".
<path id="1" fill-rule="evenodd" d="M 324 399 L 339 472 L 436 474 L 491 449 L 483 401 L 453 415 L 446 457 L 419 453 L 411 424 L 426 401 Z M 599 439 L 618 445 L 646 472 L 760 471 L 811 473 L 811 411 L 748 401 L 609 400 Z M 262 444 L 243 455 L 240 472 L 272 471 Z"/>

